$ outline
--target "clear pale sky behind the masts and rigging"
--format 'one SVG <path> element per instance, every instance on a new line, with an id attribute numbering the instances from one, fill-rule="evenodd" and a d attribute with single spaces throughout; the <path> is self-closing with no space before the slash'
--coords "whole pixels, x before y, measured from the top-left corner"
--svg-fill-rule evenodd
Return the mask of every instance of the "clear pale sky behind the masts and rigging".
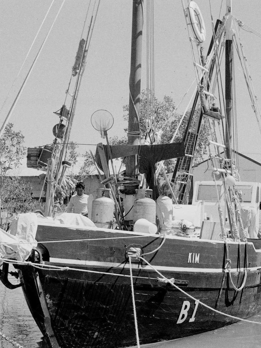
<path id="1" fill-rule="evenodd" d="M 2 125 L 15 96 L 52 25 L 62 0 L 55 0 L 52 9 L 40 31 L 26 63 L 5 102 L 8 92 L 22 66 L 33 39 L 47 13 L 52 0 L 0 0 L 0 114 Z M 187 3 L 186 1 L 184 1 Z M 214 22 L 226 12 L 226 1 L 196 1 L 203 15 L 208 49 L 212 36 L 211 15 Z M 53 112 L 61 108 L 65 91 L 71 77 L 71 68 L 78 49 L 88 1 L 66 0 L 52 32 L 21 94 L 10 122 L 15 130 L 25 136 L 26 147 L 50 144 L 54 140 L 53 126 L 59 118 Z M 146 1 L 144 1 L 146 6 Z M 146 13 L 146 12 L 145 12 Z M 221 15 L 220 15 L 221 13 Z M 259 0 L 236 0 L 232 2 L 232 14 L 256 31 L 261 32 Z M 78 96 L 70 140 L 77 142 L 78 151 L 95 151 L 95 145 L 105 142 L 90 122 L 91 115 L 99 109 L 108 110 L 114 118 L 108 136 L 123 136 L 126 123 L 122 118 L 122 106 L 129 102 L 129 70 L 132 24 L 132 0 L 101 0 L 92 40 L 86 60 Z M 155 94 L 159 100 L 164 95 L 171 96 L 179 104 L 195 79 L 187 26 L 180 0 L 154 1 L 154 49 L 155 49 Z M 146 23 L 143 32 L 143 60 L 141 87 L 146 81 Z M 253 33 L 242 33 L 242 43 L 256 96 L 261 104 L 261 38 Z M 241 66 L 235 70 L 242 73 Z M 238 150 L 261 162 L 261 135 L 250 99 L 243 87 L 243 79 L 238 79 Z M 182 113 L 190 99 L 189 91 L 180 105 Z M 90 145 L 91 144 L 91 145 Z"/>

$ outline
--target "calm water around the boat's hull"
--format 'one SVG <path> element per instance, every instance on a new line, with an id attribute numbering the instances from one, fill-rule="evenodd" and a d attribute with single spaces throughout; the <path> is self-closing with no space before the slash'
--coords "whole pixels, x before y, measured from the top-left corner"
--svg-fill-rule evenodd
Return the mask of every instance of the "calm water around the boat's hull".
<path id="1" fill-rule="evenodd" d="M 0 332 L 24 348 L 39 348 L 42 334 L 27 307 L 21 288 L 7 289 L 0 282 Z M 261 323 L 261 314 L 249 320 Z M 0 348 L 14 347 L 0 337 Z M 142 345 L 144 348 L 260 348 L 261 324 L 239 322 L 178 340 Z"/>

